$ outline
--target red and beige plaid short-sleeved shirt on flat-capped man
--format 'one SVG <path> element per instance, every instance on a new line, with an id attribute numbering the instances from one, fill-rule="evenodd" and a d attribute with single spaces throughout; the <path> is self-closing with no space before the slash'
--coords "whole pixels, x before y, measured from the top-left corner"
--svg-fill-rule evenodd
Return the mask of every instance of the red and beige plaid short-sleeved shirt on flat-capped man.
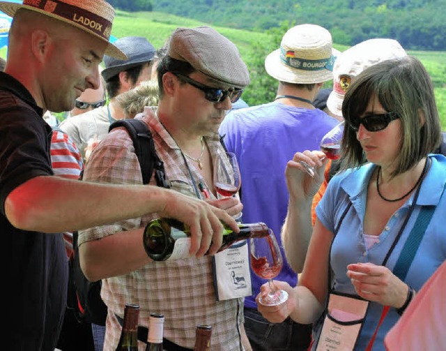
<path id="1" fill-rule="evenodd" d="M 171 188 L 197 197 L 189 171 L 175 140 L 160 124 L 153 111 L 146 107 L 144 117 L 151 129 L 155 149 L 164 162 Z M 224 152 L 217 134 L 204 140 L 215 158 Z M 207 187 L 197 168 L 188 163 L 195 183 Z M 84 179 L 114 184 L 142 184 L 141 170 L 134 154 L 132 140 L 124 128 L 116 128 L 102 140 L 91 154 Z M 156 185 L 154 177 L 151 185 Z M 209 188 L 208 188 L 209 189 Z M 208 191 L 213 197 L 212 191 Z M 79 232 L 79 244 L 112 235 L 123 230 L 144 227 L 157 218 L 150 214 L 112 225 L 93 227 Z M 194 348 L 197 324 L 213 326 L 211 350 L 240 350 L 240 323 L 243 322 L 243 299 L 215 301 L 211 257 L 151 262 L 124 276 L 102 281 L 102 299 L 109 308 L 104 350 L 114 350 L 121 335 L 115 313 L 123 317 L 125 303 L 139 304 L 139 325 L 148 327 L 151 312 L 163 313 L 164 337 L 185 348 Z M 144 351 L 140 343 L 139 350 Z"/>

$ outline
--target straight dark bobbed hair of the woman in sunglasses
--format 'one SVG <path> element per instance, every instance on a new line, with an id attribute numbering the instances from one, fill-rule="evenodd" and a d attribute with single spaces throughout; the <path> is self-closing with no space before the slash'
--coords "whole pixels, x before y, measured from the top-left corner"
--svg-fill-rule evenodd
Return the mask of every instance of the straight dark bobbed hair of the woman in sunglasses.
<path id="1" fill-rule="evenodd" d="M 401 152 L 392 177 L 414 167 L 441 142 L 441 126 L 433 84 L 426 68 L 415 57 L 391 59 L 370 66 L 357 75 L 346 92 L 342 115 L 346 125 L 359 118 L 371 98 L 377 96 L 387 112 L 401 121 Z M 344 130 L 342 169 L 359 167 L 364 154 L 356 133 Z"/>

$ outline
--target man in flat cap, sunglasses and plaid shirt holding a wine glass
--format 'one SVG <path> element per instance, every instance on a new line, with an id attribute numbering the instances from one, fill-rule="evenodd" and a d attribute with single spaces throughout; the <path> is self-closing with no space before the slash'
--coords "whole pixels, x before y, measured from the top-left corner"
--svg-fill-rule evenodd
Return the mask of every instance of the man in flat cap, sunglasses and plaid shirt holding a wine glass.
<path id="1" fill-rule="evenodd" d="M 238 197 L 222 198 L 213 186 L 213 160 L 226 157 L 218 128 L 232 103 L 249 84 L 248 70 L 236 45 L 210 27 L 178 28 L 157 67 L 157 77 L 160 86 L 157 109 L 146 107 L 135 118 L 150 128 L 171 189 L 206 199 L 231 216 L 240 215 L 242 206 Z M 156 184 L 153 178 L 151 184 Z M 124 128 L 112 130 L 93 150 L 84 179 L 142 184 L 132 140 Z M 133 257 L 131 245 L 126 255 L 113 255 L 110 245 L 114 238 L 141 230 L 153 218 L 157 215 L 79 232 L 80 255 L 89 262 L 86 269 L 103 279 L 102 299 L 109 308 L 105 350 L 114 350 L 118 344 L 122 321 L 116 314 L 122 316 L 126 301 L 139 304 L 142 326 L 149 324 L 151 313 L 164 314 L 164 350 L 192 350 L 195 327 L 203 323 L 213 327 L 210 350 L 243 350 L 243 346 L 250 350 L 244 338 L 243 298 L 217 296 L 216 292 L 220 283 L 231 283 L 220 276 L 218 267 L 233 248 L 214 257 L 149 263 L 146 257 L 144 260 Z M 140 237 L 134 245 L 139 246 L 139 241 Z M 91 255 L 93 247 L 101 260 Z M 246 245 L 244 249 L 247 264 Z M 132 260 L 128 260 L 130 256 Z M 107 263 L 112 261 L 112 265 Z M 246 268 L 249 276 L 249 267 Z"/>

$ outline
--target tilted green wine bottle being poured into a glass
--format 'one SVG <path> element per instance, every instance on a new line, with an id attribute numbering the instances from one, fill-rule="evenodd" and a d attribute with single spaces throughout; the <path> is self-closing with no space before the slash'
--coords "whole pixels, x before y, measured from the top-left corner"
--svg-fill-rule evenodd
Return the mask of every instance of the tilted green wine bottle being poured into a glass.
<path id="1" fill-rule="evenodd" d="M 236 241 L 266 237 L 270 228 L 265 223 L 240 223 L 240 232 L 235 233 L 224 225 L 223 243 L 220 249 L 229 248 Z M 178 260 L 190 257 L 190 230 L 171 218 L 157 218 L 149 222 L 143 234 L 144 248 L 148 257 L 155 261 Z"/>

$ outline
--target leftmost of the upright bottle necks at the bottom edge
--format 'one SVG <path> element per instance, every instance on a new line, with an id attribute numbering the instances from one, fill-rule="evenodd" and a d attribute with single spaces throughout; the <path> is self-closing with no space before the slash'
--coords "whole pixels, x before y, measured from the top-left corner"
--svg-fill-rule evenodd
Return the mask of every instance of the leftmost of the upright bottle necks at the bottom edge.
<path id="1" fill-rule="evenodd" d="M 124 322 L 116 351 L 138 351 L 139 305 L 125 304 Z"/>

